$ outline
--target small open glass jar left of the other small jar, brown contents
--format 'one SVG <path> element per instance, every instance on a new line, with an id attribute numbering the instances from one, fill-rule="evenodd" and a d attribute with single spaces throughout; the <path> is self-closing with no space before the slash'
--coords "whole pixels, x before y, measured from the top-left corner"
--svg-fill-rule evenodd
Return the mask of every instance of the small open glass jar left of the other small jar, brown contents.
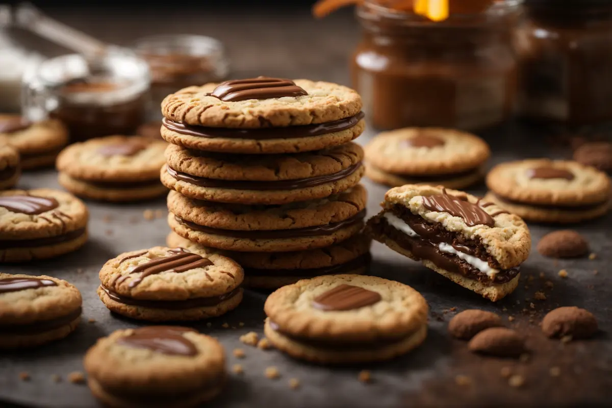
<path id="1" fill-rule="evenodd" d="M 71 141 L 133 135 L 145 119 L 148 91 L 147 64 L 130 50 L 70 54 L 47 59 L 24 76 L 23 114 L 31 121 L 59 119 Z"/>

